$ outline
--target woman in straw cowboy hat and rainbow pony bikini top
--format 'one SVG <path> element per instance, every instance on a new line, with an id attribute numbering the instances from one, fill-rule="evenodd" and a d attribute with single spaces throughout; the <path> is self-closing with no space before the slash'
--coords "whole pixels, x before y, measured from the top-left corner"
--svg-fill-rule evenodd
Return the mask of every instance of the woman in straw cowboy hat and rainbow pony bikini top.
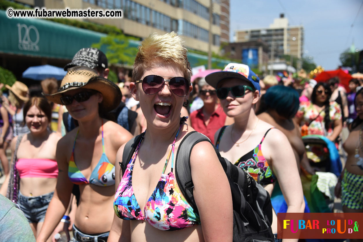
<path id="1" fill-rule="evenodd" d="M 58 142 L 56 191 L 37 241 L 46 241 L 61 219 L 69 223 L 63 215 L 73 184 L 77 184 L 79 203 L 72 241 L 106 242 L 113 218 L 116 153 L 132 138 L 126 129 L 105 118 L 121 101 L 120 89 L 93 69 L 76 66 L 68 69 L 57 93 L 45 96 L 66 105 L 79 127 Z"/>

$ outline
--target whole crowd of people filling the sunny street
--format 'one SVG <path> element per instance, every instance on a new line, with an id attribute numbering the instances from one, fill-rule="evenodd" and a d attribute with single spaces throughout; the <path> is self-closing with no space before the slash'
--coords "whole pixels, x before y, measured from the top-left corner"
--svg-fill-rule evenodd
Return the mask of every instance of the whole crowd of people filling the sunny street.
<path id="1" fill-rule="evenodd" d="M 9 211 L 19 207 L 26 218 L 7 217 L 9 225 L 17 219 L 24 226 L 21 233 L 9 227 L 12 238 L 55 241 L 65 232 L 73 242 L 232 241 L 233 191 L 220 155 L 270 195 L 272 241 L 281 241 L 276 213 L 317 211 L 304 184 L 319 177 L 331 181 L 315 184 L 327 203 L 335 189 L 344 212 L 363 211 L 363 89 L 357 79 L 347 93 L 338 78 L 260 80 L 240 63 L 192 77 L 187 49 L 174 32 L 145 38 L 131 79 L 124 75 L 119 85 L 107 79 L 107 58 L 95 48 L 78 51 L 64 69 L 59 85 L 53 78 L 41 82 L 41 95 L 16 81 L 1 96 L 6 178 L 0 194 L 9 200 L 0 195 L 0 204 Z M 343 129 L 349 130 L 346 140 Z M 211 141 L 189 152 L 197 209 L 181 191 L 175 160 L 194 131 Z M 307 144 L 309 137 L 323 142 Z M 340 174 L 331 170 L 327 148 L 346 157 L 336 165 L 344 166 Z M 25 235 L 27 229 L 34 236 Z"/>

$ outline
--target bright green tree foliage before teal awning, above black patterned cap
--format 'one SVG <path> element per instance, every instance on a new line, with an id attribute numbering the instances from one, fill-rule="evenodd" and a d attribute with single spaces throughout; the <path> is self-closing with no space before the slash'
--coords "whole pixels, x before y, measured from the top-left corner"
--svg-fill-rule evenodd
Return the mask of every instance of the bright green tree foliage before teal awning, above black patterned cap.
<path id="1" fill-rule="evenodd" d="M 92 47 L 101 49 L 106 46 L 106 56 L 109 64 L 132 65 L 135 60 L 137 48 L 129 47 L 129 40 L 133 37 L 125 36 L 121 31 L 110 33 L 102 37 L 99 43 L 93 44 Z"/>

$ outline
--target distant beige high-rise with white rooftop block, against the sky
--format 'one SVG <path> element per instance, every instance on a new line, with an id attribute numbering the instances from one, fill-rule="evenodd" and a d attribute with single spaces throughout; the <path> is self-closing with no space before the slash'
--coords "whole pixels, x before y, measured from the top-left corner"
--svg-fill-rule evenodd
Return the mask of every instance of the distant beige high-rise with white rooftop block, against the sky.
<path id="1" fill-rule="evenodd" d="M 303 55 L 304 27 L 290 26 L 284 14 L 274 19 L 269 28 L 241 29 L 235 31 L 235 42 L 262 40 L 269 46 L 268 55 L 273 60 L 282 59 L 283 55 L 301 58 Z"/>

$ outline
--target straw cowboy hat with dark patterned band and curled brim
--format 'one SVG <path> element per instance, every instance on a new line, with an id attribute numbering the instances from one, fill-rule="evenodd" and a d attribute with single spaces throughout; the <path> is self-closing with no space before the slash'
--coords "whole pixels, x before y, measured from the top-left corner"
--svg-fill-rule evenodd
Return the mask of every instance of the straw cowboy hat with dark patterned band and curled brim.
<path id="1" fill-rule="evenodd" d="M 54 94 L 43 93 L 43 95 L 49 101 L 62 104 L 60 98 L 64 96 L 65 92 L 79 88 L 93 89 L 102 93 L 103 100 L 100 108 L 105 112 L 117 108 L 121 102 L 121 91 L 119 87 L 110 80 L 99 77 L 95 70 L 85 66 L 69 68 L 61 82 L 61 87 L 58 89 L 58 92 Z"/>

